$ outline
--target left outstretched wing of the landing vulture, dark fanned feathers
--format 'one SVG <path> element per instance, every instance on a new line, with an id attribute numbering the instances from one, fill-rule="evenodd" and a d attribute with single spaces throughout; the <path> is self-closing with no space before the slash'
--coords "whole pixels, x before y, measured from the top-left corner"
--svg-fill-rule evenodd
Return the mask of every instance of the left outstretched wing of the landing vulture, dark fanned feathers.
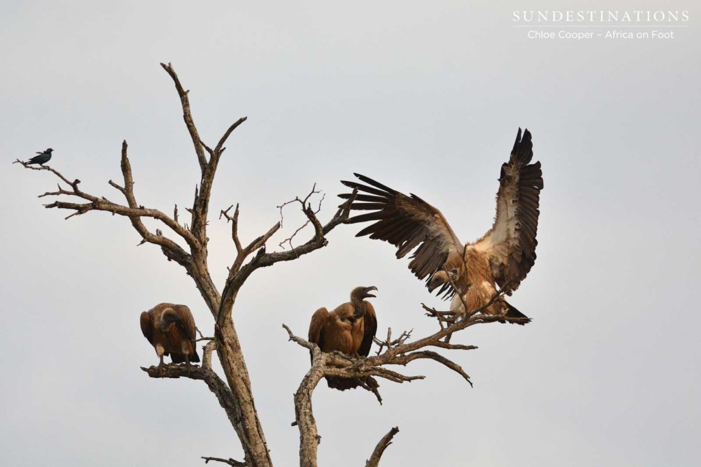
<path id="1" fill-rule="evenodd" d="M 449 254 L 457 255 L 462 251 L 463 245 L 438 209 L 416 195 L 407 196 L 367 176 L 354 175 L 368 185 L 341 181 L 343 185 L 358 190 L 351 209 L 372 212 L 353 216 L 351 223 L 375 221 L 360 230 L 356 237 L 369 235 L 372 239 L 393 244 L 397 247 L 397 258 L 403 258 L 418 246 L 409 263 L 409 269 L 418 279 L 428 277 L 430 280 Z M 348 199 L 351 193 L 339 197 Z"/>

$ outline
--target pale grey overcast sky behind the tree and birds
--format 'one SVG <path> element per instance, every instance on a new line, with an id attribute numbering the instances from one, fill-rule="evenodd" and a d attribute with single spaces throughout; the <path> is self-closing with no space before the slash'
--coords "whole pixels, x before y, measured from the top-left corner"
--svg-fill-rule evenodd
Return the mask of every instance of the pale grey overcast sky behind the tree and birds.
<path id="1" fill-rule="evenodd" d="M 527 326 L 470 328 L 451 357 L 475 384 L 434 362 L 423 381 L 314 394 L 322 466 L 362 466 L 399 426 L 383 466 L 695 466 L 701 458 L 701 11 L 692 1 L 5 1 L 0 4 L 0 463 L 198 466 L 243 458 L 205 384 L 149 379 L 158 362 L 138 315 L 158 302 L 212 317 L 189 277 L 128 221 L 64 221 L 36 195 L 48 172 L 11 165 L 54 148 L 50 166 L 81 188 L 119 193 L 129 143 L 139 204 L 191 204 L 198 165 L 179 99 L 158 62 L 191 90 L 203 139 L 229 140 L 211 211 L 240 203 L 250 240 L 275 207 L 326 193 L 360 172 L 442 210 L 463 242 L 491 227 L 499 166 L 517 128 L 543 164 L 538 260 L 510 302 Z M 613 6 L 615 4 L 615 6 Z M 565 6 L 566 5 L 566 6 Z M 674 39 L 528 39 L 515 10 L 687 10 Z M 536 27 L 533 30 L 540 30 Z M 554 32 L 559 29 L 551 28 Z M 589 31 L 570 28 L 569 31 Z M 601 28 L 596 29 L 601 32 Z M 603 29 L 606 30 L 606 29 Z M 622 28 L 611 27 L 611 30 Z M 301 217 L 290 208 L 268 250 Z M 372 299 L 379 333 L 435 321 L 447 307 L 392 246 L 341 226 L 329 245 L 256 272 L 234 320 L 277 466 L 298 463 L 292 393 L 311 314 Z M 210 218 L 210 270 L 233 258 L 229 226 Z M 300 241 L 311 235 L 304 232 Z"/>

